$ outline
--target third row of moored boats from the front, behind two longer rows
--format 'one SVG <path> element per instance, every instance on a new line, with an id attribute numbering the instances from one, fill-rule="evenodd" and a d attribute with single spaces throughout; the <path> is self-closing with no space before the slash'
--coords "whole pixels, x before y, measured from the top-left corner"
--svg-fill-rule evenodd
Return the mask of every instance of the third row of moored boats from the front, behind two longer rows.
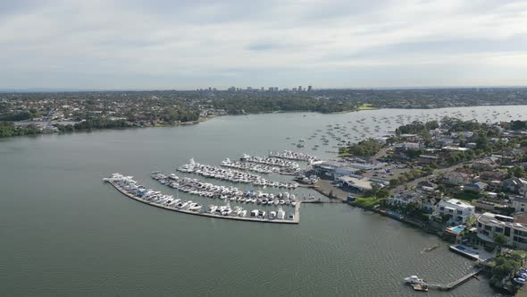
<path id="1" fill-rule="evenodd" d="M 188 164 L 182 165 L 178 171 L 189 174 L 198 174 L 209 178 L 229 182 L 243 182 L 252 183 L 255 186 L 267 186 L 286 189 L 296 189 L 298 184 L 296 182 L 272 182 L 264 179 L 257 174 L 249 174 L 233 169 L 224 169 L 213 165 L 204 165 L 197 163 L 194 158 L 191 158 Z"/>

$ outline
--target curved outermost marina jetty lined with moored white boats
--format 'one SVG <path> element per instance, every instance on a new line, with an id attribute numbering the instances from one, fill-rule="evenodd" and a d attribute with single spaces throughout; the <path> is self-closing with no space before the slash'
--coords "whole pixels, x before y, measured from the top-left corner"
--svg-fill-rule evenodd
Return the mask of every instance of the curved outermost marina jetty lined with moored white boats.
<path id="1" fill-rule="evenodd" d="M 300 204 L 298 201 L 294 212 L 287 214 L 281 207 L 277 211 L 270 211 L 269 214 L 262 209 L 253 209 L 247 213 L 241 207 L 230 208 L 229 201 L 225 205 L 209 205 L 206 209 L 192 200 L 182 200 L 173 196 L 163 195 L 160 191 L 146 189 L 139 185 L 133 176 L 123 174 L 112 174 L 103 179 L 113 185 L 117 191 L 123 195 L 139 202 L 154 206 L 156 208 L 168 209 L 195 216 L 209 216 L 222 219 L 231 219 L 246 222 L 276 223 L 276 224 L 298 224 L 300 221 Z"/>

